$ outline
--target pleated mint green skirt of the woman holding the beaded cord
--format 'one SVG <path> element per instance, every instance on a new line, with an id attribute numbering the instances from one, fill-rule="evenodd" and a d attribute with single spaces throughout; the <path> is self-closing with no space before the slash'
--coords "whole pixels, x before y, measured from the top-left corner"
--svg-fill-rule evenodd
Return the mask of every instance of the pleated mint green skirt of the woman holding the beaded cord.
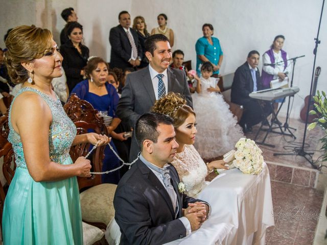
<path id="1" fill-rule="evenodd" d="M 63 164 L 71 164 L 69 157 Z M 83 244 L 76 177 L 35 182 L 17 167 L 5 200 L 3 241 L 7 244 Z"/>

